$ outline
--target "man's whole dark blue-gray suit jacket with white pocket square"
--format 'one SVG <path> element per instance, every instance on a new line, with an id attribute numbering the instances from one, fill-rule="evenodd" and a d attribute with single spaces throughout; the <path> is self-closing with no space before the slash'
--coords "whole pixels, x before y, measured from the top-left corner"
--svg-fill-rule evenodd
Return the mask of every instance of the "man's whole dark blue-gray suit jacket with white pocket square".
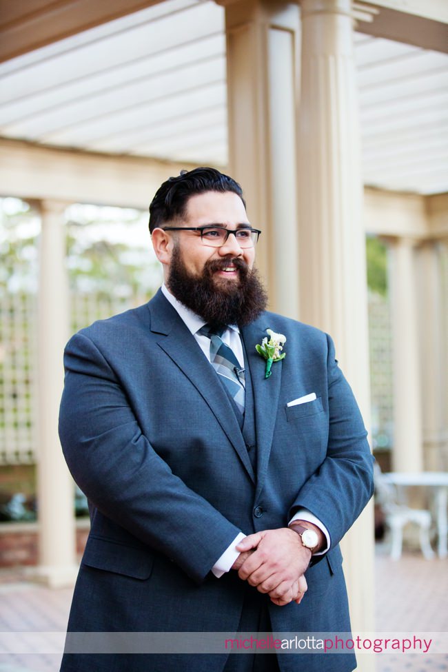
<path id="1" fill-rule="evenodd" d="M 287 337 L 264 378 L 256 343 Z M 238 531 L 285 527 L 298 507 L 329 530 L 300 605 L 269 602 L 276 631 L 349 631 L 339 541 L 371 497 L 372 458 L 331 338 L 265 312 L 241 330 L 254 389 L 256 470 L 214 369 L 159 291 L 94 323 L 65 350 L 59 431 L 92 529 L 70 631 L 234 631 L 243 583 L 210 569 Z M 287 402 L 316 392 L 316 400 Z M 269 601 L 269 598 L 267 598 Z M 93 656 L 93 657 L 92 657 Z M 64 671 L 218 672 L 225 655 L 65 655 Z M 325 671 L 354 669 L 327 655 Z M 281 655 L 282 671 L 321 671 L 320 655 Z M 295 662 L 294 662 L 295 661 Z M 121 665 L 121 666 L 120 666 Z M 305 666 L 303 666 L 305 665 Z"/>

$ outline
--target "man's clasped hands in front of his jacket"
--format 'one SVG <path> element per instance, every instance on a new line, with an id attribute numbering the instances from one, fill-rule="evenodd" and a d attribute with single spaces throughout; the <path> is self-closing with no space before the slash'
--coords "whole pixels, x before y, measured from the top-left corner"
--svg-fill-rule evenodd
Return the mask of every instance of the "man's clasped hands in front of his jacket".
<path id="1" fill-rule="evenodd" d="M 293 601 L 301 603 L 307 591 L 303 574 L 312 553 L 294 530 L 281 527 L 250 534 L 236 550 L 240 554 L 232 569 L 241 579 L 267 593 L 278 607 Z"/>

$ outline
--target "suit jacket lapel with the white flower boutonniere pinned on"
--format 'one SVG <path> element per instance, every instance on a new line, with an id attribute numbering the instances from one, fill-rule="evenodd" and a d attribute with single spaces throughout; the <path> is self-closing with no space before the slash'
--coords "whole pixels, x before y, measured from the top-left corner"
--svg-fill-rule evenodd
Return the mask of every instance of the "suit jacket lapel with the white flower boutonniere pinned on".
<path id="1" fill-rule="evenodd" d="M 257 488 L 256 496 L 261 492 L 267 472 L 269 455 L 271 453 L 272 438 L 278 411 L 278 396 L 281 389 L 281 374 L 283 360 L 273 363 L 272 375 L 265 378 L 266 360 L 256 352 L 255 345 L 261 344 L 267 328 L 275 325 L 268 324 L 267 318 L 261 316 L 252 324 L 241 329 L 247 365 L 250 367 L 252 388 L 254 390 L 255 427 L 257 440 Z"/>

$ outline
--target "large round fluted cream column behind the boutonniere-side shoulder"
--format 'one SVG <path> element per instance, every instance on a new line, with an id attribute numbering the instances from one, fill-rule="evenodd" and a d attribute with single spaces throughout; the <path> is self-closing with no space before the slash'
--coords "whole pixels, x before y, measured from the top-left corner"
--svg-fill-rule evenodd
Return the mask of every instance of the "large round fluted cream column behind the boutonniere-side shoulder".
<path id="1" fill-rule="evenodd" d="M 299 118 L 301 319 L 332 334 L 369 425 L 360 132 L 350 0 L 302 0 Z M 352 626 L 373 622 L 373 507 L 343 540 Z M 364 657 L 363 671 L 374 662 Z"/>

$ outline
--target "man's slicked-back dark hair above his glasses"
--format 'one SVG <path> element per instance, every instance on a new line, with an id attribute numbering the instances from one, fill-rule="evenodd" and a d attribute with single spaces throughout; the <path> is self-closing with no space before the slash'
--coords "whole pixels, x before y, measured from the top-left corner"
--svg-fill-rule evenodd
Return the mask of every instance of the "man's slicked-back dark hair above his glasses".
<path id="1" fill-rule="evenodd" d="M 181 170 L 179 176 L 168 178 L 156 191 L 150 205 L 150 232 L 185 216 L 190 196 L 204 192 L 234 192 L 246 207 L 243 190 L 238 182 L 216 168 Z"/>

